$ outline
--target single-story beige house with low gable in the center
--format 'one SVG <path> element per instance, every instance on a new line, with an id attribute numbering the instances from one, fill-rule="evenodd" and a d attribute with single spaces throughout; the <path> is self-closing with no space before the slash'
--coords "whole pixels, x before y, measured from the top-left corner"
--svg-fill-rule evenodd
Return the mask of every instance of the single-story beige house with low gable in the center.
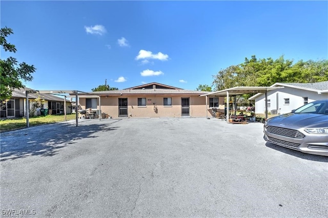
<path id="1" fill-rule="evenodd" d="M 92 108 L 116 117 L 206 117 L 206 98 L 209 92 L 183 90 L 156 82 L 124 90 L 92 92 L 79 95 L 81 109 Z M 80 117 L 83 115 L 80 115 Z"/>

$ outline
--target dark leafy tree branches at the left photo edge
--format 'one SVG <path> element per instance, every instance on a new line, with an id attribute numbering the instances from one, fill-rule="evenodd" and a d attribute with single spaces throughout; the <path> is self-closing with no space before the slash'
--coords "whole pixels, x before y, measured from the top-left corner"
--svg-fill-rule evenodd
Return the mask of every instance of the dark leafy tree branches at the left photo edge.
<path id="1" fill-rule="evenodd" d="M 13 34 L 11 28 L 1 28 L 0 42 L 2 48 L 7 52 L 15 53 L 16 47 L 7 42 L 6 37 Z M 35 72 L 33 65 L 28 65 L 25 62 L 19 63 L 16 58 L 8 57 L 7 59 L 0 59 L 0 71 L 1 71 L 1 88 L 0 99 L 10 99 L 12 91 L 18 88 L 24 88 L 24 81 L 31 81 L 33 79 L 32 73 Z"/>

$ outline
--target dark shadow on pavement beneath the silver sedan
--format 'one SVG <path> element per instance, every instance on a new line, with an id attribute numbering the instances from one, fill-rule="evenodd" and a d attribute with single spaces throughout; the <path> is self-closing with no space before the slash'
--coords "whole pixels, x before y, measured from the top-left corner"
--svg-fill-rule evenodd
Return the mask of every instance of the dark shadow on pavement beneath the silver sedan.
<path id="1" fill-rule="evenodd" d="M 280 152 L 284 152 L 285 154 L 292 155 L 292 156 L 302 158 L 302 159 L 305 159 L 305 160 L 328 163 L 328 157 L 326 157 L 326 156 L 305 154 L 305 153 L 302 153 L 301 151 L 298 151 L 298 150 L 293 150 L 293 149 L 290 149 L 290 148 L 286 148 L 286 147 L 282 147 L 282 146 L 279 146 L 279 145 L 272 144 L 271 142 L 265 143 L 265 146 L 270 147 L 270 148 L 275 149 L 275 150 L 278 150 Z"/>

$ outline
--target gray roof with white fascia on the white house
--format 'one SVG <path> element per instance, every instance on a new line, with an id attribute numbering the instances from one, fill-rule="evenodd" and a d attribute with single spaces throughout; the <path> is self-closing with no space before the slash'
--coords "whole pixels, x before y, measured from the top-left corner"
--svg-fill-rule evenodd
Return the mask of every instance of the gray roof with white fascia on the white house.
<path id="1" fill-rule="evenodd" d="M 313 82 L 313 83 L 300 83 L 300 82 L 276 82 L 275 84 L 271 85 L 270 87 L 279 87 L 279 86 L 285 86 L 290 87 L 294 89 L 300 89 L 300 90 L 308 90 L 311 92 L 317 92 L 318 94 L 321 93 L 327 93 L 328 90 L 328 81 L 323 82 Z M 258 96 L 260 96 L 262 93 L 258 93 L 252 97 L 249 98 L 249 100 L 255 100 Z"/>

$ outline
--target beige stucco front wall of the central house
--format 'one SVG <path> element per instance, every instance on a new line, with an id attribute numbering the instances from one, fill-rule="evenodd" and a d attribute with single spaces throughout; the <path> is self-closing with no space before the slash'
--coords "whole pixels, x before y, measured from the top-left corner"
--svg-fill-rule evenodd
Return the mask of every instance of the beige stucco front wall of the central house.
<path id="1" fill-rule="evenodd" d="M 123 96 L 101 96 L 101 112 L 118 117 L 118 98 L 128 98 L 128 117 L 181 117 L 181 98 L 189 98 L 190 117 L 212 116 L 212 110 L 206 108 L 206 98 L 198 95 L 123 95 Z M 138 106 L 138 98 L 146 98 L 146 106 Z M 172 98 L 172 106 L 164 106 L 163 98 Z M 148 103 L 148 100 L 150 102 Z M 79 97 L 79 104 L 86 109 L 86 98 Z M 154 110 L 155 106 L 155 110 Z M 99 102 L 97 106 L 99 110 Z"/>

